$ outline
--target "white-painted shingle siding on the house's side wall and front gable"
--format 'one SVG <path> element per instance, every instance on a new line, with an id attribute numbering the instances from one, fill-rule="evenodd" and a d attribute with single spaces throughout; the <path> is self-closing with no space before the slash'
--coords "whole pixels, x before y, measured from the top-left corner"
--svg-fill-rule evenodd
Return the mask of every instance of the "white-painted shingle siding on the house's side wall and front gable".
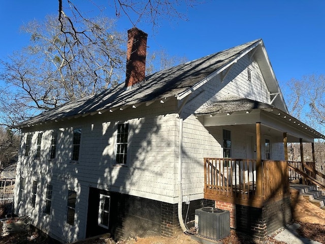
<path id="1" fill-rule="evenodd" d="M 246 80 L 247 65 L 253 70 L 252 84 Z M 191 95 L 182 110 L 183 195 L 190 200 L 203 198 L 203 158 L 222 157 L 220 143 L 223 129 L 205 128 L 192 114 L 229 93 L 269 102 L 265 82 L 254 60 L 240 59 L 223 82 L 220 82 L 220 77 L 213 78 Z M 155 102 L 137 109 L 130 107 L 123 111 L 24 129 L 17 166 L 16 196 L 21 175 L 26 178 L 26 190 L 21 204 L 15 199 L 16 214 L 30 215 L 38 228 L 47 233 L 50 230 L 51 235 L 62 237 L 62 241 L 73 241 L 85 237 L 89 187 L 177 203 L 179 118 L 176 105 L 171 99 L 165 104 Z M 118 123 L 129 124 L 126 166 L 114 165 Z M 78 162 L 71 162 L 74 128 L 82 129 Z M 236 127 L 224 129 L 232 131 L 233 157 L 246 158 L 245 132 Z M 55 160 L 49 161 L 52 130 L 59 132 L 57 155 Z M 33 133 L 31 153 L 24 157 L 24 143 L 29 132 Z M 42 157 L 34 160 L 38 132 L 43 132 Z M 280 149 L 272 145 L 272 155 L 279 152 Z M 29 204 L 32 180 L 39 182 L 35 208 Z M 52 212 L 49 216 L 43 214 L 47 183 L 53 185 Z M 74 226 L 66 224 L 69 189 L 77 192 Z"/>

